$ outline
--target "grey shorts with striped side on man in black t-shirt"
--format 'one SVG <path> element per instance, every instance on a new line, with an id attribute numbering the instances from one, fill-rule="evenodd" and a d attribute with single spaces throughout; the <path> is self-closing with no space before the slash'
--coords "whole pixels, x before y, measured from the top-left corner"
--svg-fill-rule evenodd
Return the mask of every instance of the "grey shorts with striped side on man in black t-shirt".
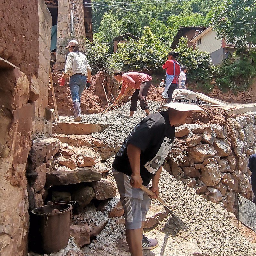
<path id="1" fill-rule="evenodd" d="M 151 198 L 140 188 L 133 188 L 130 184 L 131 176 L 113 169 L 120 201 L 124 208 L 125 228 L 139 229 L 145 221 L 151 204 Z"/>

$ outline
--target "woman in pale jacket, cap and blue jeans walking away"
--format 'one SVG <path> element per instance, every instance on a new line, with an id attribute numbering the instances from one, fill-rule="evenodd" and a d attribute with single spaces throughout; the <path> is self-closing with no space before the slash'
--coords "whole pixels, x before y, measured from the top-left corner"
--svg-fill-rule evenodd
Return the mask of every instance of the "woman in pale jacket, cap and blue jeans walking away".
<path id="1" fill-rule="evenodd" d="M 82 119 L 80 102 L 84 89 L 88 89 L 91 84 L 91 67 L 84 54 L 79 52 L 78 42 L 71 40 L 67 46 L 69 53 L 63 77 L 59 79 L 60 86 L 65 85 L 65 80 L 69 76 L 69 88 L 74 108 L 74 122 Z"/>

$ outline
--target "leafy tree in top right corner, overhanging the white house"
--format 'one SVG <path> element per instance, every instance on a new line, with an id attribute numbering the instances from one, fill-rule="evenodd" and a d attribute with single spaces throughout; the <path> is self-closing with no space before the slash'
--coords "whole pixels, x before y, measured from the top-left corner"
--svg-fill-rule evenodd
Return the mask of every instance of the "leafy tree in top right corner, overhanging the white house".
<path id="1" fill-rule="evenodd" d="M 252 45 L 256 44 L 255 20 L 255 0 L 225 0 L 213 9 L 212 26 L 218 38 L 224 37 L 238 48 L 249 44 L 251 50 Z"/>

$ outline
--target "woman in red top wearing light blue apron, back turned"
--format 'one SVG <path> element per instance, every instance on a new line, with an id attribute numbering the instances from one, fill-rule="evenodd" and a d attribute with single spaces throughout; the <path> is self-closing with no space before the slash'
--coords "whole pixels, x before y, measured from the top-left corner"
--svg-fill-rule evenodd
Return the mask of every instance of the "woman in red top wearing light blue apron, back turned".
<path id="1" fill-rule="evenodd" d="M 172 100 L 172 93 L 175 89 L 178 89 L 179 75 L 180 75 L 180 64 L 175 60 L 179 56 L 178 52 L 169 52 L 168 60 L 164 63 L 163 69 L 166 69 L 166 84 L 162 96 L 164 99 L 168 99 L 167 103 Z"/>

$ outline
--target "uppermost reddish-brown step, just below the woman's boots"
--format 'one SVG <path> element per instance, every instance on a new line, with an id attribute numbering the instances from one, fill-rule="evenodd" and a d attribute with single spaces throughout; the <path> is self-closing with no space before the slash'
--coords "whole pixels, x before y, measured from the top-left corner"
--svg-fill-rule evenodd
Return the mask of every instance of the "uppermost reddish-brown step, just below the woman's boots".
<path id="1" fill-rule="evenodd" d="M 111 124 L 89 124 L 77 122 L 56 122 L 52 126 L 52 133 L 66 135 L 88 135 L 94 132 L 102 132 Z"/>

